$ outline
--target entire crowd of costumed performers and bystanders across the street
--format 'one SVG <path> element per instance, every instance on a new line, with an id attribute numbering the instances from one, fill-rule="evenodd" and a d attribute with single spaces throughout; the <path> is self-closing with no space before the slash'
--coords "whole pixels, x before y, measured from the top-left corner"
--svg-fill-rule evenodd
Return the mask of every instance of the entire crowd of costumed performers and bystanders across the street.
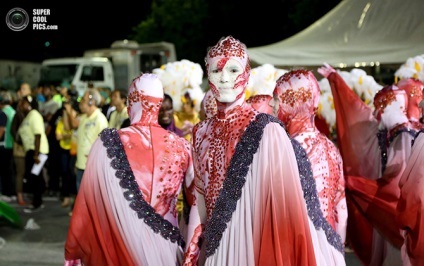
<path id="1" fill-rule="evenodd" d="M 0 93 L 0 162 L 15 166 L 1 192 L 21 205 L 31 193 L 26 212 L 60 192 L 65 265 L 346 265 L 347 248 L 364 265 L 423 263 L 422 81 L 382 86 L 373 109 L 323 64 L 332 139 L 312 71 L 247 96 L 249 56 L 232 36 L 205 69 L 200 110 L 190 93 L 175 110 L 155 73 L 78 101 L 71 87 L 24 83 L 15 106 Z"/>

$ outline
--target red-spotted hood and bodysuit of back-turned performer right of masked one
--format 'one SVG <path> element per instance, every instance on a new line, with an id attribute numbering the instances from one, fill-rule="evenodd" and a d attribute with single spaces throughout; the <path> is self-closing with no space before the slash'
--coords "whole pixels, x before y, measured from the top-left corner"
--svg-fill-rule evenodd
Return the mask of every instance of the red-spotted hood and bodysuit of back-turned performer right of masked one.
<path id="1" fill-rule="evenodd" d="M 311 162 L 321 211 L 344 242 L 348 213 L 343 161 L 338 148 L 315 125 L 320 97 L 318 82 L 311 71 L 292 70 L 277 80 L 274 96 L 280 99 L 278 118 Z"/>

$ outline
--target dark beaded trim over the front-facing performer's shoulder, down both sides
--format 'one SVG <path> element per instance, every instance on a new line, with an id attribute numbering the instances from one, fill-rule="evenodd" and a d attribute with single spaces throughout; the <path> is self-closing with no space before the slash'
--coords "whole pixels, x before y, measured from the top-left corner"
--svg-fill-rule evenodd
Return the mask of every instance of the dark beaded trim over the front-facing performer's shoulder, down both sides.
<path id="1" fill-rule="evenodd" d="M 205 227 L 204 238 L 206 240 L 207 257 L 215 253 L 221 241 L 222 234 L 227 228 L 227 223 L 231 220 L 232 213 L 236 210 L 237 201 L 241 197 L 242 188 L 246 182 L 245 177 L 249 166 L 253 161 L 254 154 L 258 150 L 263 130 L 270 122 L 278 123 L 285 129 L 284 124 L 277 118 L 264 113 L 258 114 L 256 119 L 246 128 L 240 142 L 236 146 L 227 169 L 222 190 L 215 202 L 215 208 L 212 211 L 211 218 Z M 308 215 L 314 223 L 315 228 L 322 228 L 325 231 L 329 243 L 344 254 L 341 237 L 333 230 L 320 209 L 315 179 L 313 178 L 312 168 L 307 159 L 306 152 L 297 141 L 292 138 L 290 139 L 296 153 Z"/>

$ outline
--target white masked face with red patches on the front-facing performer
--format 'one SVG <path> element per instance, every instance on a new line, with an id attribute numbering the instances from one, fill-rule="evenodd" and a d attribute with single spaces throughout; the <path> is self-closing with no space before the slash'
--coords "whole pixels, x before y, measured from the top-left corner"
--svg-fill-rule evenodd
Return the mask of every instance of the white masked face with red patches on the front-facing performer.
<path id="1" fill-rule="evenodd" d="M 246 89 L 247 81 L 248 75 L 244 67 L 231 57 L 216 60 L 210 65 L 209 84 L 219 102 L 232 103 L 240 99 Z"/>

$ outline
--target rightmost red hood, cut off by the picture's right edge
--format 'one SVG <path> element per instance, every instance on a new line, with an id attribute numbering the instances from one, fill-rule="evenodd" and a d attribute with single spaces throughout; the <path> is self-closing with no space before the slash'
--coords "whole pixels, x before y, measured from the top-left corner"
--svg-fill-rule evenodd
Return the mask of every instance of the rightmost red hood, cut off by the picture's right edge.
<path id="1" fill-rule="evenodd" d="M 414 78 L 406 78 L 400 80 L 396 86 L 404 90 L 408 97 L 407 116 L 411 121 L 418 122 L 421 117 L 421 109 L 419 104 L 423 97 L 424 83 Z"/>

